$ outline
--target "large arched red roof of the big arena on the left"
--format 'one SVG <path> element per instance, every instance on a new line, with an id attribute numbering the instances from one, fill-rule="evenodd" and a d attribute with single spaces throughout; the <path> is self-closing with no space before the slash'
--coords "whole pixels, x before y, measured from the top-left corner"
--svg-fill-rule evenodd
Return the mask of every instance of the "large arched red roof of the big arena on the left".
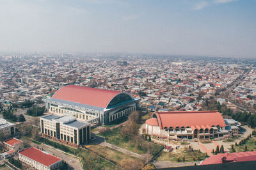
<path id="1" fill-rule="evenodd" d="M 111 99 L 119 93 L 122 92 L 68 85 L 56 91 L 52 98 L 106 108 Z"/>

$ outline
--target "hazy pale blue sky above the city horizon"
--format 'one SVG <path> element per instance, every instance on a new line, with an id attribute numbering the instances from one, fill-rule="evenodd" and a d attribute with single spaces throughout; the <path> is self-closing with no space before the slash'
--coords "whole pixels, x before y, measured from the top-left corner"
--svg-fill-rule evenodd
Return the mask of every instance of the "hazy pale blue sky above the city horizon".
<path id="1" fill-rule="evenodd" d="M 256 58 L 256 1 L 0 0 L 0 51 Z"/>

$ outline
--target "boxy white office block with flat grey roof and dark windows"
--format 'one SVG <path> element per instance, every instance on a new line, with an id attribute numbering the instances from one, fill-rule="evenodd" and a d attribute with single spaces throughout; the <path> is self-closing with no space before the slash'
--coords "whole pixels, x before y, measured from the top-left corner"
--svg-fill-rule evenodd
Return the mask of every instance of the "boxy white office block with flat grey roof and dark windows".
<path id="1" fill-rule="evenodd" d="M 74 116 L 47 115 L 40 118 L 41 133 L 63 143 L 79 146 L 91 139 L 90 123 Z"/>

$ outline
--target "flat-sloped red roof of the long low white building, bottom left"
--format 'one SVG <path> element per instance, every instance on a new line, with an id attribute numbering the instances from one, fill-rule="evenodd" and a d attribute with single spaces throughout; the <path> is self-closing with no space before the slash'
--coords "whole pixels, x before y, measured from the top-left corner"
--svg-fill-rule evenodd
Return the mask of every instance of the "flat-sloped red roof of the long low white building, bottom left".
<path id="1" fill-rule="evenodd" d="M 52 164 L 62 160 L 61 158 L 54 157 L 51 154 L 44 153 L 41 150 L 38 150 L 34 147 L 26 148 L 19 152 L 21 155 L 25 157 L 31 158 L 40 164 L 44 164 L 45 166 L 49 167 Z"/>

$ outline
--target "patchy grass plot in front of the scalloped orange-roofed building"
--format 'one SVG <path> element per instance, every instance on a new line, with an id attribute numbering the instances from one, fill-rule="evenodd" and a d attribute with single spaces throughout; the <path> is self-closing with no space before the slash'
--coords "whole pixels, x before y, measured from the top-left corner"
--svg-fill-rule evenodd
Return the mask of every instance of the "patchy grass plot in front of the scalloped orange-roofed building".
<path id="1" fill-rule="evenodd" d="M 197 160 L 198 157 L 200 157 L 200 160 L 204 160 L 206 158 L 205 153 L 202 153 L 202 152 L 199 153 L 197 150 L 192 151 L 191 149 L 188 149 L 188 148 L 182 148 L 177 150 L 177 152 L 162 151 L 159 157 L 157 157 L 157 160 L 177 162 L 177 157 L 179 157 L 180 160 L 182 160 L 182 157 L 185 157 L 185 162 L 192 162 L 194 161 L 193 158 L 195 158 L 195 161 L 199 161 Z"/>

